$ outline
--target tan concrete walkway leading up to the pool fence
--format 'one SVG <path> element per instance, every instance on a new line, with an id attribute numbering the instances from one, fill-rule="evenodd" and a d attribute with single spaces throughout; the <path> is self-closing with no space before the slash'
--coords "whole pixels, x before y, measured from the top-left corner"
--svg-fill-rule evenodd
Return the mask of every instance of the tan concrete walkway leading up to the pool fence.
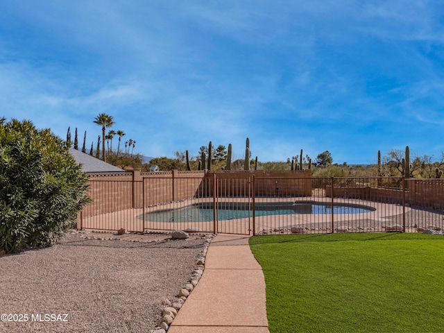
<path id="1" fill-rule="evenodd" d="M 218 234 L 169 333 L 268 333 L 265 280 L 248 237 Z"/>

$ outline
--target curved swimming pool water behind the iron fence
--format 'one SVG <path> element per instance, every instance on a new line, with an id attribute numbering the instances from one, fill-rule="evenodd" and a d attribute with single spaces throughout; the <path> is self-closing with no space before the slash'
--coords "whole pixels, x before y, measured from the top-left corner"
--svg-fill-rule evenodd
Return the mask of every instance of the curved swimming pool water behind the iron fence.
<path id="1" fill-rule="evenodd" d="M 218 221 L 245 219 L 253 216 L 251 203 L 217 203 Z M 361 214 L 373 212 L 374 207 L 335 203 L 334 214 Z M 285 203 L 255 203 L 255 216 L 289 214 L 332 214 L 331 203 L 296 201 Z M 213 221 L 213 203 L 194 203 L 185 207 L 157 210 L 145 214 L 145 221 L 151 222 L 210 222 Z M 142 219 L 142 216 L 139 216 Z"/>

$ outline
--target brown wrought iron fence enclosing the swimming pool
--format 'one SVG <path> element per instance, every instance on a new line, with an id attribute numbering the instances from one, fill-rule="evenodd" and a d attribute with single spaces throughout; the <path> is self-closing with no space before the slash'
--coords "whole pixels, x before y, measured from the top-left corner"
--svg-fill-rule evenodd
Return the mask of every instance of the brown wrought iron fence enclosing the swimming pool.
<path id="1" fill-rule="evenodd" d="M 231 234 L 444 228 L 444 180 L 165 175 L 90 181 L 80 228 Z"/>

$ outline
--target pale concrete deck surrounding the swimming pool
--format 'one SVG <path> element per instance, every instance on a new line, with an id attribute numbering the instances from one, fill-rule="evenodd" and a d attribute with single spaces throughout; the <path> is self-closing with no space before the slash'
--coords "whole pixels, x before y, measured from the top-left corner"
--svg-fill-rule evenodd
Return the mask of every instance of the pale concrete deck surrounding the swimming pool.
<path id="1" fill-rule="evenodd" d="M 284 203 L 284 202 L 316 202 L 316 203 L 331 203 L 331 198 L 256 198 L 257 203 Z M 365 205 L 374 207 L 374 212 L 366 212 L 361 214 L 334 214 L 334 228 L 337 229 L 344 225 L 351 225 L 355 231 L 382 231 L 381 228 L 385 226 L 393 226 L 398 224 L 393 219 L 393 216 L 402 214 L 403 207 L 400 205 L 374 203 L 360 199 L 344 199 L 336 198 L 336 204 L 349 205 Z M 245 199 L 230 198 L 224 200 L 230 203 L 243 202 Z M 270 216 L 255 216 L 253 225 L 253 216 L 244 219 L 232 219 L 218 221 L 216 228 L 215 223 L 211 222 L 150 222 L 142 221 L 139 216 L 146 212 L 155 212 L 156 210 L 169 210 L 185 207 L 193 203 L 212 202 L 210 198 L 187 199 L 180 202 L 167 203 L 164 205 L 156 205 L 153 207 L 145 207 L 122 210 L 119 212 L 110 212 L 106 214 L 99 214 L 88 216 L 83 219 L 82 228 L 95 230 L 119 230 L 124 228 L 130 232 L 162 232 L 168 230 L 187 230 L 194 229 L 199 232 L 214 232 L 227 234 L 245 234 L 252 235 L 253 229 L 255 234 L 280 232 L 289 230 L 291 227 L 303 227 L 307 232 L 331 232 L 332 228 L 332 214 L 289 214 L 289 215 L 270 215 Z M 220 202 L 220 200 L 219 200 Z M 404 207 L 406 212 L 411 208 Z M 285 231 L 284 231 L 285 232 Z"/>

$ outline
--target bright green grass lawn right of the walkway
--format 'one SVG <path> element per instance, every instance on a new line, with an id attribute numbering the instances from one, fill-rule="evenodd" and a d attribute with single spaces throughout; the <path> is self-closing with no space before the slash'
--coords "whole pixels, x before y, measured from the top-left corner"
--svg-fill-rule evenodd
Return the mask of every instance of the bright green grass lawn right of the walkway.
<path id="1" fill-rule="evenodd" d="M 250 238 L 271 333 L 444 332 L 444 237 Z"/>

